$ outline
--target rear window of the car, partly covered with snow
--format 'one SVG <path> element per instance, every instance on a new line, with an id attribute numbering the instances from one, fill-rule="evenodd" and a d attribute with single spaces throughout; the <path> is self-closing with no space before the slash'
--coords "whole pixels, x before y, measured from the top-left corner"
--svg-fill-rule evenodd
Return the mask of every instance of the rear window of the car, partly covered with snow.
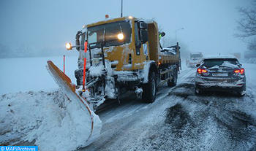
<path id="1" fill-rule="evenodd" d="M 211 68 L 213 66 L 221 66 L 223 63 L 231 63 L 233 65 L 238 65 L 239 62 L 236 58 L 212 58 L 212 59 L 204 59 L 203 66 L 207 68 Z"/>

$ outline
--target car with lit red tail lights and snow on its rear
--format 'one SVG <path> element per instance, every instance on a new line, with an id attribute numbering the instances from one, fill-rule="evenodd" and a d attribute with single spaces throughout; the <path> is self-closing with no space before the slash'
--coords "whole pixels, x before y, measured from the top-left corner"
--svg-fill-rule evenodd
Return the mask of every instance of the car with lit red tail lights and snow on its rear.
<path id="1" fill-rule="evenodd" d="M 234 56 L 203 58 L 197 64 L 195 93 L 210 91 L 233 91 L 239 96 L 246 93 L 246 76 L 241 63 Z"/>

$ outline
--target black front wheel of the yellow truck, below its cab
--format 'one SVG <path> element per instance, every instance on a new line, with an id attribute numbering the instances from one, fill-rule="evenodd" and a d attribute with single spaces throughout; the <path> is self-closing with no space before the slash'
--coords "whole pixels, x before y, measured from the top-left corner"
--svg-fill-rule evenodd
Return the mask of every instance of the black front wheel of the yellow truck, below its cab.
<path id="1" fill-rule="evenodd" d="M 143 85 L 143 101 L 153 103 L 157 94 L 157 79 L 154 71 L 151 71 L 148 76 L 148 83 Z"/>

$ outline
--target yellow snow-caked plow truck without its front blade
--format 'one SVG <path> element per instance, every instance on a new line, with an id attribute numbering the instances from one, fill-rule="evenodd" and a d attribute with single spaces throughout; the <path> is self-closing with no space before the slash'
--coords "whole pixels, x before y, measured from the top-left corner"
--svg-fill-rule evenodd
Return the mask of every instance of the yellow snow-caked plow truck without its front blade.
<path id="1" fill-rule="evenodd" d="M 162 48 L 157 23 L 131 16 L 83 26 L 75 45 L 67 43 L 66 47 L 79 52 L 73 91 L 93 109 L 127 91 L 154 102 L 159 85 L 176 85 L 181 66 L 178 42 Z"/>

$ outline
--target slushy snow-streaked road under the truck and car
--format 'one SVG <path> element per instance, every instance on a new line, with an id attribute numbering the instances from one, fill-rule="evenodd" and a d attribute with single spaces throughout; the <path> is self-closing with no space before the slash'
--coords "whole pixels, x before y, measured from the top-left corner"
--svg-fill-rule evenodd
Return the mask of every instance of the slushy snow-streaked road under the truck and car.
<path id="1" fill-rule="evenodd" d="M 246 64 L 247 93 L 195 96 L 195 69 L 153 104 L 126 98 L 99 113 L 102 135 L 79 150 L 256 150 L 256 66 Z"/>

